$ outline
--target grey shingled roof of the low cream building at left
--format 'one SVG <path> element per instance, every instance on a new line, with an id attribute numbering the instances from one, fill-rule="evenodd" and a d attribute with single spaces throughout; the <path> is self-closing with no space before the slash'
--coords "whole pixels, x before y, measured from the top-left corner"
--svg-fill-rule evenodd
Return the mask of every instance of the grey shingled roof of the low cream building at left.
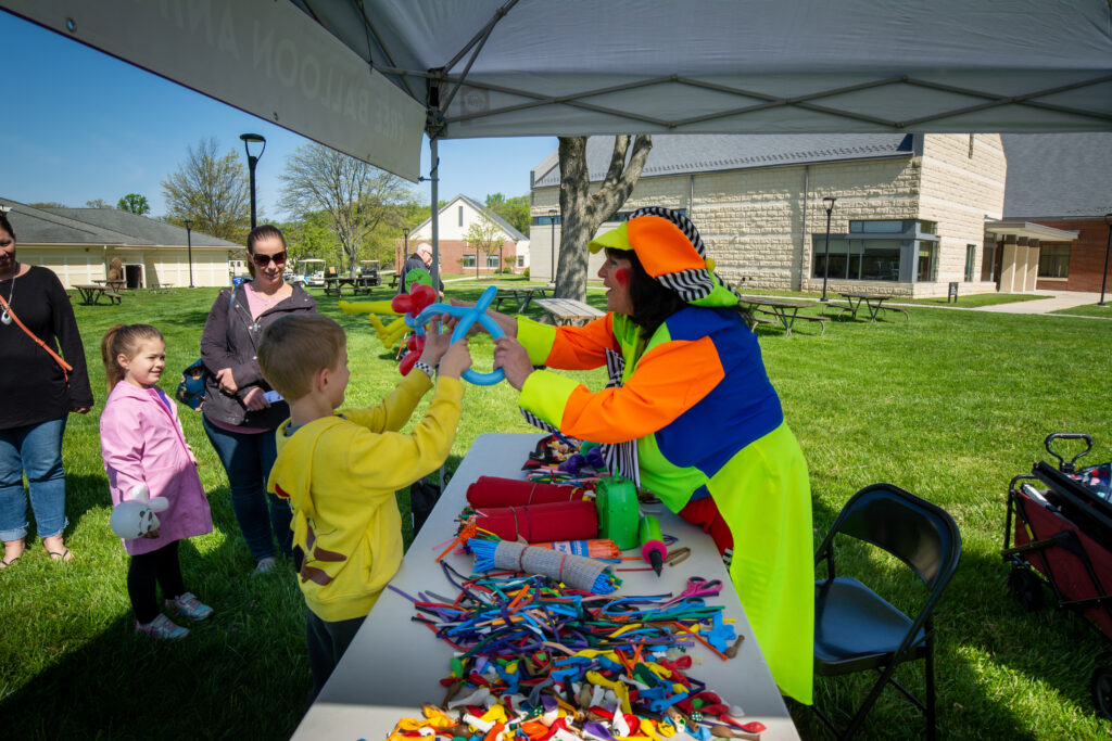
<path id="1" fill-rule="evenodd" d="M 242 247 L 196 229 L 187 236 L 181 227 L 118 209 L 36 208 L 7 198 L 0 204 L 11 208 L 12 228 L 26 243 Z"/>

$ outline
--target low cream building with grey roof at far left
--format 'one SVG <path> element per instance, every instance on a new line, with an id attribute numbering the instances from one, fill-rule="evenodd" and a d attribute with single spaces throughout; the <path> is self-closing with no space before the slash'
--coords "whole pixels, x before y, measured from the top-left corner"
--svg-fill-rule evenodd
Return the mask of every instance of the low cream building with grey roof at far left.
<path id="1" fill-rule="evenodd" d="M 0 198 L 16 230 L 19 259 L 50 268 L 71 288 L 108 278 L 113 258 L 128 288 L 228 286 L 244 247 L 203 232 L 187 233 L 118 209 L 34 208 Z M 191 259 L 190 259 L 191 258 Z"/>

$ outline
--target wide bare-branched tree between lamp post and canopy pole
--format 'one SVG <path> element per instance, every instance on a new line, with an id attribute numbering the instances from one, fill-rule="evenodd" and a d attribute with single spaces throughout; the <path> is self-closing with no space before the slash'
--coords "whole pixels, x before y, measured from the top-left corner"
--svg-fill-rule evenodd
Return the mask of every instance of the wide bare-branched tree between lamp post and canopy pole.
<path id="1" fill-rule="evenodd" d="M 351 277 L 365 240 L 379 227 L 400 228 L 390 221 L 395 207 L 413 196 L 401 178 L 321 144 L 299 147 L 278 177 L 282 208 L 329 216 Z"/>

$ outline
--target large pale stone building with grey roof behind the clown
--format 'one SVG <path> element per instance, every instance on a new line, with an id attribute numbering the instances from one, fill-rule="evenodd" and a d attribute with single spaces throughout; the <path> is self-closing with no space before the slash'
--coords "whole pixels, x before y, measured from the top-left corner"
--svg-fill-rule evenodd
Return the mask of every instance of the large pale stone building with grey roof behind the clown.
<path id="1" fill-rule="evenodd" d="M 600 182 L 610 137 L 587 143 Z M 550 279 L 559 249 L 559 162 L 533 171 L 532 276 Z M 716 270 L 742 288 L 868 290 L 901 297 L 995 291 L 985 223 L 1004 208 L 999 134 L 735 134 L 653 137 L 642 178 L 613 228 L 643 206 L 678 209 Z M 827 268 L 827 207 L 830 246 Z M 594 256 L 590 274 L 600 258 Z"/>

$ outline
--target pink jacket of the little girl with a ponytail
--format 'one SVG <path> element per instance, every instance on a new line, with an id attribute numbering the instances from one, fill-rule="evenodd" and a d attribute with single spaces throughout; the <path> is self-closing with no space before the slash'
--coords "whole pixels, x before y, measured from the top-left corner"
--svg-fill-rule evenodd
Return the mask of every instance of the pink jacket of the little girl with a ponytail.
<path id="1" fill-rule="evenodd" d="M 158 513 L 158 538 L 123 541 L 123 549 L 133 555 L 212 532 L 205 488 L 186 444 L 177 404 L 169 401 L 167 407 L 155 389 L 120 381 L 100 414 L 100 452 L 112 507 L 137 483 L 146 483 L 151 497 L 170 500 L 170 505 Z"/>

